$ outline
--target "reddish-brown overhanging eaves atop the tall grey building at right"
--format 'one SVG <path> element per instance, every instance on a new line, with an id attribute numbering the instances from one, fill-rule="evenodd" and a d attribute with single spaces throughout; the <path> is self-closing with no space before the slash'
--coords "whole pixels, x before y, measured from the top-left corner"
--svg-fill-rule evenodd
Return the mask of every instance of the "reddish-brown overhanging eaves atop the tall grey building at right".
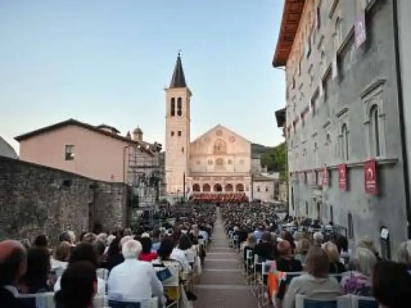
<path id="1" fill-rule="evenodd" d="M 295 34 L 303 14 L 305 0 L 285 0 L 283 17 L 275 48 L 273 66 L 280 67 L 287 64 Z"/>

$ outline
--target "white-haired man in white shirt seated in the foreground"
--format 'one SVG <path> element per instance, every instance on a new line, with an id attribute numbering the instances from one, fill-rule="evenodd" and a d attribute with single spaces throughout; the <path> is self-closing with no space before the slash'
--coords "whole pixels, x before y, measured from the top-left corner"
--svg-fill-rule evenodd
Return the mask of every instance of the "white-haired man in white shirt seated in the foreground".
<path id="1" fill-rule="evenodd" d="M 163 286 L 151 263 L 138 260 L 141 243 L 128 240 L 122 246 L 124 262 L 111 269 L 108 277 L 108 297 L 111 300 L 133 301 L 157 297 L 159 306 L 165 303 Z"/>

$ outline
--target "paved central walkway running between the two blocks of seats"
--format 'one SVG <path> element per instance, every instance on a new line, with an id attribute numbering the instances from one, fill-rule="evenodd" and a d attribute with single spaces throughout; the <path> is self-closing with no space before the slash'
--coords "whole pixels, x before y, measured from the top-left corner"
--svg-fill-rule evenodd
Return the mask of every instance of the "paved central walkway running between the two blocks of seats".
<path id="1" fill-rule="evenodd" d="M 195 286 L 198 299 L 194 308 L 256 308 L 244 275 L 238 269 L 237 255 L 228 246 L 225 227 L 217 208 L 213 243 L 207 253 L 200 284 Z"/>

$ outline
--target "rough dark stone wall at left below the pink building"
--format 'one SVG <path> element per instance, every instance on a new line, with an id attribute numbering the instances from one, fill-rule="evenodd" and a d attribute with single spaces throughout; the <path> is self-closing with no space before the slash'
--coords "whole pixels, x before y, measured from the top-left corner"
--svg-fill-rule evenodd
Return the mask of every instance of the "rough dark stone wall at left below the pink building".
<path id="1" fill-rule="evenodd" d="M 123 183 L 0 157 L 0 237 L 32 239 L 44 233 L 55 241 L 64 230 L 79 234 L 96 223 L 124 227 L 127 191 Z"/>

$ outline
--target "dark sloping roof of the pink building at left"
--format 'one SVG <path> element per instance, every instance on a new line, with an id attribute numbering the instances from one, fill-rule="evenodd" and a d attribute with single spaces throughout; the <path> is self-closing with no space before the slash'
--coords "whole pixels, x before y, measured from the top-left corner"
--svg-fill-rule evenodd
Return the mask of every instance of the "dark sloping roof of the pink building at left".
<path id="1" fill-rule="evenodd" d="M 127 142 L 128 144 L 138 145 L 145 152 L 153 155 L 153 151 L 151 150 L 152 145 L 149 144 L 149 143 L 141 142 L 141 141 L 138 141 L 138 140 L 130 140 L 127 137 L 123 137 L 123 136 L 120 136 L 119 134 L 112 133 L 112 132 L 109 132 L 107 130 L 101 129 L 101 127 L 100 127 L 101 125 L 94 126 L 94 125 L 87 124 L 87 123 L 84 123 L 84 122 L 80 122 L 80 121 L 74 120 L 74 119 L 68 119 L 68 120 L 63 121 L 63 122 L 55 123 L 55 124 L 52 124 L 52 125 L 49 125 L 49 126 L 45 126 L 43 128 L 39 128 L 39 129 L 30 131 L 30 132 L 24 133 L 20 136 L 14 137 L 14 140 L 16 140 L 18 142 L 21 142 L 21 141 L 24 141 L 24 140 L 39 136 L 40 134 L 43 134 L 43 133 L 46 133 L 46 132 L 49 132 L 49 131 L 53 131 L 53 130 L 56 130 L 56 129 L 60 129 L 60 128 L 63 128 L 63 127 L 66 127 L 66 126 L 79 126 L 79 127 L 94 131 L 96 133 L 103 134 L 107 137 L 111 137 L 111 138 L 114 138 L 114 139 L 117 139 L 117 140 Z"/>

